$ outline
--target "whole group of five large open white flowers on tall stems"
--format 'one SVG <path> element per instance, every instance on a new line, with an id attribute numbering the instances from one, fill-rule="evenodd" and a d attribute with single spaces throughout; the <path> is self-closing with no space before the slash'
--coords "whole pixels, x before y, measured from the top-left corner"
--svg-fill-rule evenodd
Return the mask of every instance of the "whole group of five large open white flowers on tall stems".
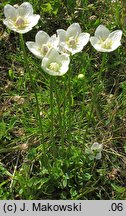
<path id="1" fill-rule="evenodd" d="M 33 14 L 32 5 L 28 2 L 20 6 L 7 4 L 4 7 L 4 24 L 20 34 L 30 31 L 39 21 L 40 15 Z M 78 23 L 73 23 L 67 30 L 58 29 L 51 37 L 45 31 L 39 31 L 35 41 L 26 45 L 30 52 L 42 59 L 41 66 L 45 72 L 53 76 L 62 76 L 69 69 L 70 55 L 84 48 L 90 41 L 99 52 L 111 52 L 121 45 L 122 31 L 110 31 L 103 25 L 97 27 L 95 35 L 83 33 Z"/>

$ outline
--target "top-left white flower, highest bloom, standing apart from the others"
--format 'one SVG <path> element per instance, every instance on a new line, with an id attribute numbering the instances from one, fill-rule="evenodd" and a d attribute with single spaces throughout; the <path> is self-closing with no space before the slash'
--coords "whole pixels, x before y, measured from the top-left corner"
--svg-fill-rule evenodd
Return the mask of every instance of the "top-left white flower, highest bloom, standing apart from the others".
<path id="1" fill-rule="evenodd" d="M 20 6 L 13 7 L 9 4 L 4 7 L 6 19 L 3 23 L 11 30 L 18 33 L 26 33 L 38 23 L 40 15 L 33 14 L 32 5 L 24 2 Z"/>

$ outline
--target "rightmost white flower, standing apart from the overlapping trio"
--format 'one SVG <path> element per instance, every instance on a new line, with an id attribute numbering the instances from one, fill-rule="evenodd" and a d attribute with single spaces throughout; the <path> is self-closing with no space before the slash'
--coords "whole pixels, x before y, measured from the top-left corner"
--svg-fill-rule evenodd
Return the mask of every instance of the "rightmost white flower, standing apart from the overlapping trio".
<path id="1" fill-rule="evenodd" d="M 112 52 L 121 45 L 122 31 L 110 31 L 104 26 L 100 25 L 95 31 L 95 36 L 90 37 L 92 46 L 100 52 Z"/>

